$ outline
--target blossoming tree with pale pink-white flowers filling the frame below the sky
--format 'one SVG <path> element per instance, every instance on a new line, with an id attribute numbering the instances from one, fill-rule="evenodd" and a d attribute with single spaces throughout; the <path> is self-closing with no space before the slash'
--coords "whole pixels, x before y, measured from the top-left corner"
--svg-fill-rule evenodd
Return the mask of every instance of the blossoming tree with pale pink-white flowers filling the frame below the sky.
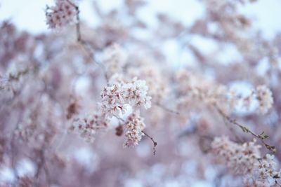
<path id="1" fill-rule="evenodd" d="M 203 0 L 192 25 L 155 27 L 148 3 L 93 1 L 90 27 L 78 1 L 54 0 L 40 35 L 1 22 L 0 186 L 281 185 L 280 34 L 251 27 L 238 11 L 251 0 Z M 169 41 L 193 64 L 170 62 Z M 221 63 L 227 46 L 240 58 Z"/>

